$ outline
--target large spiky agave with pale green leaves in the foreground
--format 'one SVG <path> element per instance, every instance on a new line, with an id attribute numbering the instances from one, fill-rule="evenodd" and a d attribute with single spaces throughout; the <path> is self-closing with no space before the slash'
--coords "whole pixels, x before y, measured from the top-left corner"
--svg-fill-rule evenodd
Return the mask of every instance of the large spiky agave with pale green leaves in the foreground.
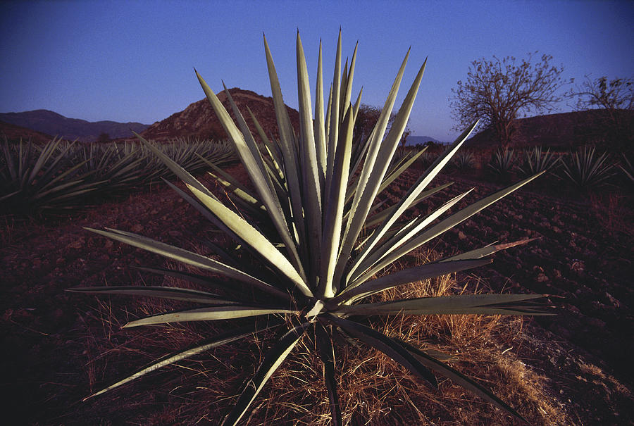
<path id="1" fill-rule="evenodd" d="M 237 123 L 234 123 L 216 94 L 196 73 L 213 110 L 235 144 L 235 151 L 254 187 L 254 191 L 249 191 L 222 170 L 215 170 L 213 175 L 216 179 L 231 189 L 233 200 L 239 201 L 235 204 L 241 206 L 240 212 L 225 206 L 187 171 L 154 146 L 147 144 L 185 182 L 189 193 L 173 184 L 170 187 L 251 253 L 256 261 L 261 262 L 261 268 L 254 271 L 254 268 L 244 266 L 244 261 L 239 261 L 234 254 L 225 251 L 218 252 L 223 259 L 218 261 L 130 232 L 91 229 L 119 242 L 220 275 L 225 279 L 223 285 L 227 291 L 216 294 L 176 287 L 130 286 L 76 288 L 73 291 L 155 296 L 197 303 L 194 308 L 133 320 L 125 327 L 182 321 L 230 320 L 261 315 L 267 315 L 266 325 L 261 325 L 254 318 L 254 325 L 251 327 L 237 327 L 200 342 L 197 346 L 166 355 L 88 398 L 103 394 L 164 365 L 277 327 L 281 337 L 272 343 L 254 376 L 244 384 L 235 406 L 223 419 L 223 425 L 234 425 L 244 418 L 269 377 L 290 356 L 299 339 L 311 339 L 323 361 L 323 378 L 330 398 L 333 425 L 342 424 L 335 377 L 335 340 L 358 341 L 378 349 L 430 387 L 437 387 L 436 374 L 448 377 L 515 418 L 526 421 L 485 387 L 432 356 L 437 351 L 419 349 L 407 342 L 387 337 L 368 327 L 366 318 L 369 315 L 545 314 L 537 310 L 534 304 L 534 299 L 541 297 L 538 294 L 461 294 L 380 303 L 368 301 L 373 294 L 392 287 L 486 265 L 491 262 L 489 256 L 492 253 L 521 244 L 489 245 L 433 263 L 398 270 L 390 275 L 381 274 L 387 265 L 430 242 L 536 176 L 486 196 L 442 220 L 439 218 L 464 199 L 468 192 L 449 199 L 429 215 L 404 220 L 403 213 L 409 207 L 447 186 L 428 189 L 433 178 L 447 165 L 473 130 L 473 123 L 449 146 L 445 154 L 430 165 L 398 203 L 376 208 L 378 194 L 411 164 L 410 158 L 410 161 L 397 162 L 390 168 L 392 156 L 402 137 L 421 84 L 425 63 L 411 84 L 392 127 L 385 134 L 409 56 L 408 51 L 373 132 L 361 146 L 354 146 L 352 129 L 361 99 L 359 94 L 356 102 L 351 102 L 356 48 L 352 61 L 349 65 L 346 62 L 342 68 L 340 35 L 333 82 L 328 102 L 324 103 L 320 46 L 313 116 L 304 50 L 298 33 L 300 120 L 299 134 L 295 134 L 282 101 L 280 84 L 266 38 L 264 47 L 278 120 L 279 141 L 268 139 L 255 121 L 262 141 L 261 144 L 256 143 L 229 92 L 225 89 Z M 252 114 L 251 117 L 254 118 Z M 156 271 L 158 270 L 154 270 Z M 163 270 L 163 273 L 198 284 L 210 281 L 206 275 L 173 270 Z M 250 291 L 239 294 L 231 292 L 237 284 L 249 288 Z M 218 282 L 215 285 L 214 288 L 217 288 Z M 233 296 L 228 296 L 229 294 Z M 337 336 L 344 339 L 335 339 Z"/>

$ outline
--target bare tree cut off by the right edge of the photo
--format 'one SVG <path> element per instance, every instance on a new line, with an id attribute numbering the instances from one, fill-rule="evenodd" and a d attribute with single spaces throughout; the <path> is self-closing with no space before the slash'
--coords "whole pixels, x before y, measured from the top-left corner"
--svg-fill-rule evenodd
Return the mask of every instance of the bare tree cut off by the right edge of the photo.
<path id="1" fill-rule="evenodd" d="M 610 148 L 622 149 L 634 139 L 634 79 L 599 77 L 591 80 L 588 75 L 568 96 L 577 98 L 578 111 L 601 109 L 604 114 L 602 137 Z"/>

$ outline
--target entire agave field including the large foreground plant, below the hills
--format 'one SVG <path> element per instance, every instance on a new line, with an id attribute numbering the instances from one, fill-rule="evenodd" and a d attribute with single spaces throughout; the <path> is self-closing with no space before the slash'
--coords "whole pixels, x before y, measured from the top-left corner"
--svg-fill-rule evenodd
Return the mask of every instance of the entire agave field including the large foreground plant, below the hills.
<path id="1" fill-rule="evenodd" d="M 196 73 L 227 142 L 3 145 L 8 424 L 632 418 L 631 158 L 398 149 L 409 52 L 361 138 L 356 48 L 311 99 L 299 34 L 297 132 L 264 47 L 280 139 Z"/>

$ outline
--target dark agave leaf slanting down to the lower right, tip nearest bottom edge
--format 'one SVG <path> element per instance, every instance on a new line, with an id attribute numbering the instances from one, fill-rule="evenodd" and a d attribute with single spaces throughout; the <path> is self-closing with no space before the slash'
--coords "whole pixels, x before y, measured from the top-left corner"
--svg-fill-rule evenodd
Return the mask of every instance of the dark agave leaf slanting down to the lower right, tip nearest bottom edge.
<path id="1" fill-rule="evenodd" d="M 429 354 L 425 353 L 425 351 L 421 351 L 420 349 L 406 342 L 400 341 L 399 343 L 405 349 L 407 349 L 407 351 L 412 353 L 418 359 L 418 361 L 421 361 L 423 365 L 427 366 L 431 370 L 434 370 L 435 372 L 441 375 L 444 375 L 449 380 L 452 380 L 452 382 L 454 382 L 455 384 L 459 384 L 461 387 L 464 387 L 465 389 L 468 389 L 469 391 L 473 392 L 473 394 L 480 396 L 480 398 L 484 399 L 485 401 L 488 401 L 492 403 L 493 405 L 497 406 L 498 408 L 501 408 L 503 411 L 510 413 L 518 420 L 521 420 L 527 425 L 529 424 L 525 418 L 519 415 L 519 413 L 515 411 L 513 408 L 511 408 L 511 406 L 509 406 L 504 401 L 502 401 L 502 399 L 499 399 L 497 396 L 492 394 L 492 392 L 489 389 L 486 389 L 480 384 L 474 382 L 473 380 L 466 377 L 464 374 L 462 374 L 458 370 L 455 370 L 454 368 L 449 367 L 449 365 L 445 363 L 441 363 L 440 361 L 433 358 L 432 356 L 429 356 Z"/>

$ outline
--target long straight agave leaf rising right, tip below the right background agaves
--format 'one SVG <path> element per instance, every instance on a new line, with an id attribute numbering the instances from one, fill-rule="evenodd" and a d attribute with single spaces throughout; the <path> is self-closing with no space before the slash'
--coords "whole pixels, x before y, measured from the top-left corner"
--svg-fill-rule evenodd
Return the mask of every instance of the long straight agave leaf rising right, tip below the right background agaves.
<path id="1" fill-rule="evenodd" d="M 430 168 L 431 167 L 433 167 L 433 165 L 430 166 Z M 542 175 L 542 173 L 528 177 L 527 179 L 522 180 L 521 182 L 518 182 L 516 184 L 512 184 L 511 186 L 506 187 L 504 189 L 500 189 L 498 192 L 495 192 L 494 194 L 491 194 L 489 196 L 485 196 L 483 199 L 480 199 L 479 201 L 476 201 L 475 203 L 470 204 L 469 206 L 461 209 L 460 211 L 457 211 L 453 215 L 449 216 L 449 218 L 441 220 L 440 223 L 437 223 L 433 227 L 430 227 L 430 229 L 428 229 L 427 231 L 423 232 L 417 237 L 414 237 L 406 244 L 403 244 L 403 246 L 401 246 L 399 249 L 394 250 L 390 255 L 383 258 L 382 261 L 380 261 L 379 263 L 374 265 L 370 270 L 368 270 L 363 275 L 361 275 L 361 277 L 359 277 L 356 281 L 368 280 L 369 277 L 374 275 L 379 270 L 385 268 L 386 265 L 389 265 L 390 263 L 396 261 L 398 258 L 400 258 L 401 256 L 404 256 L 406 253 L 409 253 L 410 251 L 417 249 L 421 245 L 425 244 L 426 242 L 429 242 L 431 239 L 434 239 L 438 235 L 458 225 L 464 220 L 471 218 L 471 216 L 475 215 L 475 213 L 482 211 L 484 208 L 487 208 L 492 203 L 495 203 L 499 199 L 502 199 L 504 196 L 511 194 L 511 192 L 514 192 L 516 189 L 519 189 L 520 187 L 527 184 L 531 180 Z"/>

